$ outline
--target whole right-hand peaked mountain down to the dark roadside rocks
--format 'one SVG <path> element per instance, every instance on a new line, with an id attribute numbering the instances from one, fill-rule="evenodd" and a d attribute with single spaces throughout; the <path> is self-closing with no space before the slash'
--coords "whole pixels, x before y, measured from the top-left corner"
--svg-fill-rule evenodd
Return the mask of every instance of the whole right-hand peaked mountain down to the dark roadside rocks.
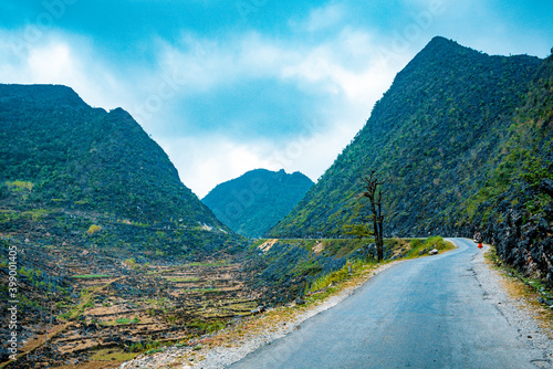
<path id="1" fill-rule="evenodd" d="M 369 169 L 386 180 L 388 236 L 471 236 L 484 232 L 492 218 L 501 222 L 493 215 L 497 199 L 509 191 L 511 199 L 526 187 L 536 192 L 552 177 L 551 63 L 551 57 L 490 56 L 432 39 L 397 74 L 320 181 L 268 235 L 347 236 L 344 225 L 361 222 L 361 177 Z M 532 177 L 538 178 L 529 183 Z M 518 204 L 525 209 L 521 220 L 544 212 L 550 198 L 535 196 L 541 198 L 535 209 L 526 207 L 536 202 L 528 197 L 530 202 Z M 503 205 L 517 204 L 514 198 L 511 202 Z M 520 260 L 532 253 L 528 250 Z M 535 259 L 543 260 L 539 254 Z"/>

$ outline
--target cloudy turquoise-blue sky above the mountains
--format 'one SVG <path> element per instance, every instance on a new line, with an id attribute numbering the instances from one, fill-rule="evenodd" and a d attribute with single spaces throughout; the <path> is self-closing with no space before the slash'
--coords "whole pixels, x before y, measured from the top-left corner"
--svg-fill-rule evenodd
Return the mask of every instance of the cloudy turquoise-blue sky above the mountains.
<path id="1" fill-rule="evenodd" d="M 545 0 L 0 0 L 0 83 L 123 107 L 199 198 L 265 168 L 316 181 L 436 35 L 550 55 Z"/>

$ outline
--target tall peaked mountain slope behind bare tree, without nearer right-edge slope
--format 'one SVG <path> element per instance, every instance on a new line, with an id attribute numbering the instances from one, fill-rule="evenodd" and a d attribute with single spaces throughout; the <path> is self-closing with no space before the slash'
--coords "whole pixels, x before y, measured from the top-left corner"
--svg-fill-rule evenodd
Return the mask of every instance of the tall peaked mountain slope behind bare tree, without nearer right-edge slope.
<path id="1" fill-rule="evenodd" d="M 365 127 L 271 235 L 340 235 L 359 176 L 386 177 L 386 233 L 420 235 L 476 193 L 541 61 L 488 56 L 434 39 L 395 78 Z M 495 160 L 495 161 L 493 161 Z"/>

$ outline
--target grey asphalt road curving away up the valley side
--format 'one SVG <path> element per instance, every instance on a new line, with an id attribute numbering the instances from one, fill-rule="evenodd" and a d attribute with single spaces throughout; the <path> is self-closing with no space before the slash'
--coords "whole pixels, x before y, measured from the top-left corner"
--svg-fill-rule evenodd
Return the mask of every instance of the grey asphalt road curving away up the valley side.
<path id="1" fill-rule="evenodd" d="M 536 368 L 474 276 L 470 240 L 406 261 L 230 368 Z"/>

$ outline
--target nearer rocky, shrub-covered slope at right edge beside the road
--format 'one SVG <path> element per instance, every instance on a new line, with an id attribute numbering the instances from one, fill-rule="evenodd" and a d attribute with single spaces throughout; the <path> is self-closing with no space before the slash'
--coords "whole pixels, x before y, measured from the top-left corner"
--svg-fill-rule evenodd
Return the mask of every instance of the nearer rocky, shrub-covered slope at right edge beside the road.
<path id="1" fill-rule="evenodd" d="M 530 83 L 509 133 L 508 154 L 467 200 L 459 223 L 481 231 L 509 265 L 553 285 L 553 55 Z"/>

